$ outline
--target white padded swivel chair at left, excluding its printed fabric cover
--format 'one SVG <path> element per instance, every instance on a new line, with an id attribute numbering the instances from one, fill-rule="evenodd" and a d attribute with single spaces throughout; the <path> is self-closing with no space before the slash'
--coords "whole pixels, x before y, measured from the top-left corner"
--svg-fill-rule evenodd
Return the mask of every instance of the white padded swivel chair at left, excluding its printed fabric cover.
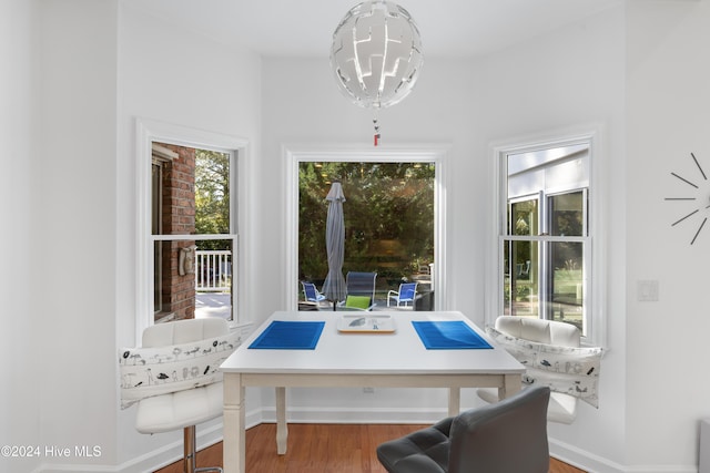
<path id="1" fill-rule="evenodd" d="M 224 319 L 190 319 L 158 323 L 143 331 L 143 348 L 168 347 L 206 340 L 229 333 Z M 138 404 L 135 429 L 161 433 L 183 429 L 184 471 L 222 472 L 219 466 L 195 467 L 195 425 L 222 415 L 222 382 L 142 399 Z"/>

